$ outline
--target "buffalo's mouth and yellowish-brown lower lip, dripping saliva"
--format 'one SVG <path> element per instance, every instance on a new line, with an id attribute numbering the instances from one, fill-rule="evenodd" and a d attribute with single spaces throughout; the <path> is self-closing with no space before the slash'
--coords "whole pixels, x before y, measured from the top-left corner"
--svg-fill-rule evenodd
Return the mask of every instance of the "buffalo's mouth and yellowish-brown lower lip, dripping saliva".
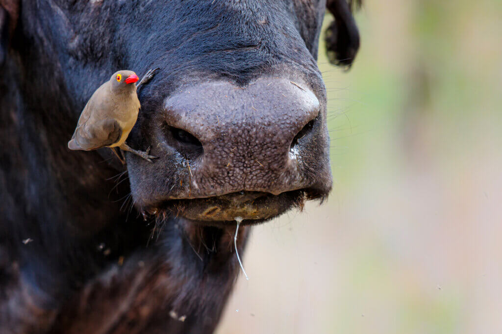
<path id="1" fill-rule="evenodd" d="M 169 212 L 203 225 L 235 224 L 236 218 L 242 218 L 242 224 L 258 224 L 277 217 L 286 211 L 303 209 L 305 200 L 322 198 L 305 189 L 293 190 L 273 195 L 267 192 L 239 191 L 230 194 L 193 199 L 171 199 L 148 211 Z"/>

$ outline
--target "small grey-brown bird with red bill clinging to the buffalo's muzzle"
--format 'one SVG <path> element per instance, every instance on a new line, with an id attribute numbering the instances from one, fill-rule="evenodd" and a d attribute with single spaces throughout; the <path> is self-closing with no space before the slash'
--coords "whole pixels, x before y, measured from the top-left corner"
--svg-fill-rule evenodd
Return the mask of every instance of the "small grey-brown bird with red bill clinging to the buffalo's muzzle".
<path id="1" fill-rule="evenodd" d="M 109 147 L 116 154 L 114 147 L 118 147 L 150 162 L 157 158 L 149 154 L 150 147 L 147 151 L 138 151 L 126 144 L 141 108 L 137 89 L 150 81 L 157 70 L 148 71 L 138 85 L 135 83 L 139 78 L 133 71 L 113 73 L 110 80 L 102 84 L 87 101 L 68 148 L 91 151 Z"/>

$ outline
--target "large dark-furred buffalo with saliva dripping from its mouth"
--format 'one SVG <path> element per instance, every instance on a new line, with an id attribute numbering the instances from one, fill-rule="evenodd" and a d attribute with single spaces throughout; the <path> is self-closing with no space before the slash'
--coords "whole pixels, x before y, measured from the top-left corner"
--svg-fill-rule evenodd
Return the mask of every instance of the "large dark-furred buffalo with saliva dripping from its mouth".
<path id="1" fill-rule="evenodd" d="M 0 0 L 0 333 L 212 332 L 250 226 L 331 188 L 345 0 Z M 128 143 L 70 151 L 92 92 L 160 68 Z"/>

